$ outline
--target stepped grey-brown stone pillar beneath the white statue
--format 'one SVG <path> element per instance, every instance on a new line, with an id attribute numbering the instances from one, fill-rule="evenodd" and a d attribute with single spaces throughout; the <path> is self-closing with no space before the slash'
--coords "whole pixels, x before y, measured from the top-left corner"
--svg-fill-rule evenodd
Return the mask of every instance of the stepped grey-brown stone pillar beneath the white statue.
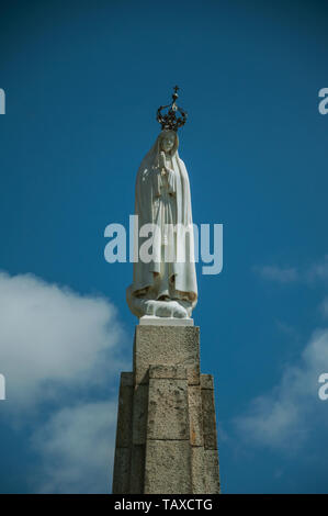
<path id="1" fill-rule="evenodd" d="M 138 325 L 121 374 L 114 494 L 219 493 L 214 386 L 200 328 Z"/>

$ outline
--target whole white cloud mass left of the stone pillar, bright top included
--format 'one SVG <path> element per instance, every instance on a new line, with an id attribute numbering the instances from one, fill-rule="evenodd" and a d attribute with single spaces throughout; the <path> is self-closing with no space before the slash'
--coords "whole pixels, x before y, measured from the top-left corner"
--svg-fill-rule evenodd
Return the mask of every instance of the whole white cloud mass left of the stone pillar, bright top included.
<path id="1" fill-rule="evenodd" d="M 1 408 L 7 423 L 32 429 L 42 460 L 34 491 L 110 492 L 117 393 L 100 401 L 94 389 L 110 392 L 120 371 L 131 369 L 129 354 L 127 363 L 122 359 L 126 344 L 116 309 L 105 299 L 32 274 L 0 273 Z M 47 401 L 54 408 L 44 422 Z"/>

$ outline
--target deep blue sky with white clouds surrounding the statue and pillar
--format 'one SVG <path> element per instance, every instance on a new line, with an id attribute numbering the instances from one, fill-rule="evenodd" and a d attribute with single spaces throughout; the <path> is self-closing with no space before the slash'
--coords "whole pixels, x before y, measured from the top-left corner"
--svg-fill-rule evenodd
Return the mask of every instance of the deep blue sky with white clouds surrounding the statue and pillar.
<path id="1" fill-rule="evenodd" d="M 181 87 L 196 224 L 201 367 L 225 493 L 327 492 L 327 7 L 316 1 L 3 2 L 0 491 L 105 492 L 131 369 L 127 224 L 156 110 Z"/>

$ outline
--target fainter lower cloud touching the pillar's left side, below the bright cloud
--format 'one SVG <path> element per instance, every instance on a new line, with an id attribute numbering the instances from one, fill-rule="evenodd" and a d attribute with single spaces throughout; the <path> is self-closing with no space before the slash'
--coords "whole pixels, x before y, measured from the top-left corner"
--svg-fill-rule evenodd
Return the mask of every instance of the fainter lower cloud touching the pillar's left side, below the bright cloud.
<path id="1" fill-rule="evenodd" d="M 33 436 L 43 456 L 38 493 L 109 493 L 116 404 L 86 403 L 55 413 Z"/>

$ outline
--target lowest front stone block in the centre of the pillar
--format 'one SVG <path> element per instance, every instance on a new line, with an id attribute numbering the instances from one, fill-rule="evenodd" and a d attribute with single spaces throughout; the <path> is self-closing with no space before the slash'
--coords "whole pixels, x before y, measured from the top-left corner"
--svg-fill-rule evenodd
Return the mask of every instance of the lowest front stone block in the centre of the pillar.
<path id="1" fill-rule="evenodd" d="M 188 440 L 148 440 L 145 493 L 191 493 L 191 461 Z"/>

